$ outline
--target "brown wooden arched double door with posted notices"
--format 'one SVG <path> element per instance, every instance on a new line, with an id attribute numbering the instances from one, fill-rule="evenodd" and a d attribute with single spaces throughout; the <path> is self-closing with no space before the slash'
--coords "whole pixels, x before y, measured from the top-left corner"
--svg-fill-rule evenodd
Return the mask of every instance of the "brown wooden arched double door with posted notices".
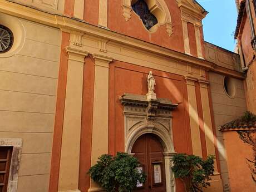
<path id="1" fill-rule="evenodd" d="M 136 192 L 166 192 L 163 146 L 154 134 L 145 134 L 135 141 L 131 152 L 139 159 L 137 168 L 146 174 L 146 182 L 137 184 Z"/>

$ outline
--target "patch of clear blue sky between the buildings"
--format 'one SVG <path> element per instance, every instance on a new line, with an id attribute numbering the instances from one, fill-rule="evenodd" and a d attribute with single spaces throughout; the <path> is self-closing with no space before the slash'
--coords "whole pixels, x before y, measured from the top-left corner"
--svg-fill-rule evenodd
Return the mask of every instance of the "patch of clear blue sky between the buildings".
<path id="1" fill-rule="evenodd" d="M 233 33 L 237 24 L 235 0 L 197 0 L 208 11 L 203 19 L 204 40 L 234 51 Z"/>

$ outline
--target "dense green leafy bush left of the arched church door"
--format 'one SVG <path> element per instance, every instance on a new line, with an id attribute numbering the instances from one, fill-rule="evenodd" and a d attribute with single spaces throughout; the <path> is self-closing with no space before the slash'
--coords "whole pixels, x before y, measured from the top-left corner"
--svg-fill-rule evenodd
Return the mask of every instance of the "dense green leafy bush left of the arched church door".
<path id="1" fill-rule="evenodd" d="M 124 152 L 117 152 L 115 157 L 102 155 L 97 164 L 88 173 L 93 181 L 107 192 L 131 192 L 139 183 L 145 183 L 146 176 L 137 171 L 139 161 Z"/>

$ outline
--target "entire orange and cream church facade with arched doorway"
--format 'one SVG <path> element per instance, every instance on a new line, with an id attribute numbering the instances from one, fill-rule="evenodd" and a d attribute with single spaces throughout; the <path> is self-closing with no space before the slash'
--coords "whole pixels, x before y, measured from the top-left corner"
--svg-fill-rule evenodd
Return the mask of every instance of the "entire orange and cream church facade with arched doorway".
<path id="1" fill-rule="evenodd" d="M 204 41 L 194 0 L 0 1 L 0 192 L 103 191 L 102 154 L 140 159 L 145 191 L 183 192 L 176 153 L 216 157 L 247 111 L 240 57 Z M 150 177 L 149 177 L 150 178 Z"/>

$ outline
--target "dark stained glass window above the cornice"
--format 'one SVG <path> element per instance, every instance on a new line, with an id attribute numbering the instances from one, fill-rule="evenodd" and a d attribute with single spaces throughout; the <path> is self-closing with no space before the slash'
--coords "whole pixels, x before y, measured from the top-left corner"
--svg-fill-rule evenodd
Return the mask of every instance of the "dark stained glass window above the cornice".
<path id="1" fill-rule="evenodd" d="M 134 12 L 140 16 L 144 26 L 149 30 L 157 23 L 157 19 L 154 14 L 150 13 L 149 7 L 144 0 L 139 0 L 132 5 Z"/>

